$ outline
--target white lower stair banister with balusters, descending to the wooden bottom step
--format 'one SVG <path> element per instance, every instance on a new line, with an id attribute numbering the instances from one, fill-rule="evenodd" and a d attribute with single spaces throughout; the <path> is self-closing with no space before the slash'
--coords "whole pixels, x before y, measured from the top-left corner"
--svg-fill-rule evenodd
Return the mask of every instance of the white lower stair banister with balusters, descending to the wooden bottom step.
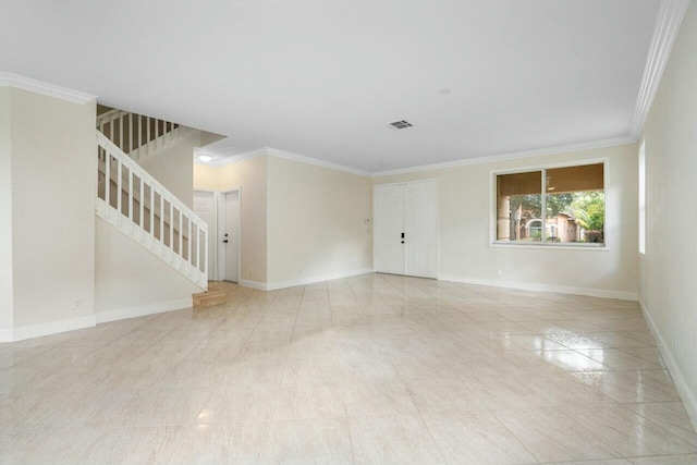
<path id="1" fill-rule="evenodd" d="M 98 158 L 100 152 L 103 151 L 106 160 L 103 163 L 98 162 L 99 170 L 105 175 L 105 189 L 103 197 L 99 192 L 97 195 L 97 215 L 119 228 L 155 255 L 159 255 L 183 276 L 206 290 L 208 286 L 208 225 L 206 222 L 99 131 L 97 131 L 97 145 Z M 127 170 L 127 176 L 124 170 Z M 115 172 L 115 178 L 112 176 L 112 172 Z M 134 182 L 135 178 L 139 181 Z M 110 204 L 110 191 L 113 184 L 115 184 L 118 196 L 117 208 Z M 146 185 L 150 188 L 149 196 L 145 194 Z M 124 196 L 127 198 L 127 213 L 124 212 L 122 205 Z M 155 201 L 157 197 L 160 200 L 159 205 Z M 134 216 L 136 201 L 139 204 L 137 206 L 139 213 L 137 221 L 135 221 Z M 169 204 L 167 209 L 164 208 L 166 201 Z M 146 209 L 150 217 L 149 231 L 145 228 L 144 221 Z M 174 211 L 178 212 L 179 217 L 174 215 Z M 160 224 L 159 234 L 156 234 L 155 231 L 157 220 L 159 220 Z M 184 225 L 185 222 L 186 227 Z M 196 260 L 192 255 L 192 248 L 194 247 L 192 233 L 194 230 L 196 231 L 195 246 L 198 249 Z M 168 235 L 166 235 L 166 231 L 169 233 Z M 186 241 L 187 254 L 184 250 L 184 241 Z M 199 244 L 206 244 L 206 257 L 203 268 L 200 266 Z"/>

